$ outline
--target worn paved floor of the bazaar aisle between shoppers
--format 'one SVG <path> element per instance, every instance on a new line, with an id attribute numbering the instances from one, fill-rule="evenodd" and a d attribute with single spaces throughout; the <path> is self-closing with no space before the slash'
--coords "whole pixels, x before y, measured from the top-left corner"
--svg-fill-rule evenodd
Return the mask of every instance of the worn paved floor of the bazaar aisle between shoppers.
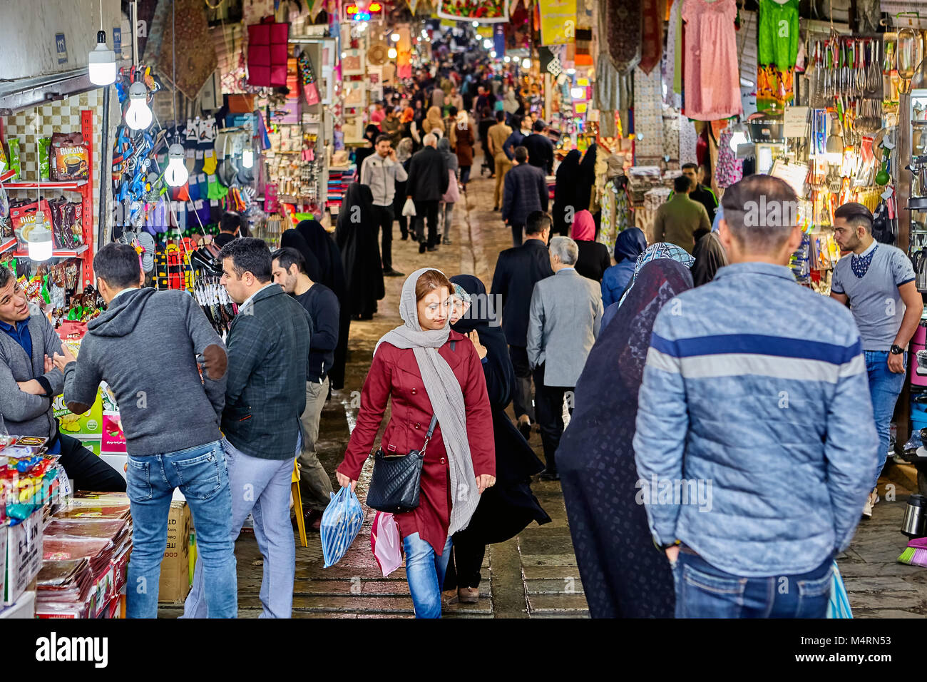
<path id="1" fill-rule="evenodd" d="M 479 161 L 476 159 L 475 168 Z M 468 193 L 458 203 L 454 224 L 456 238 L 451 246 L 441 246 L 437 252 L 420 255 L 415 242 L 399 240 L 399 230 L 394 225 L 394 267 L 410 273 L 416 268 L 434 265 L 449 276 L 473 273 L 484 282 L 491 282 L 499 252 L 511 246 L 511 232 L 502 225 L 499 213 L 492 211 L 493 183 L 488 175 L 473 176 Z M 320 461 L 333 480 L 357 415 L 360 391 L 375 343 L 400 324 L 397 301 L 403 280 L 402 277 L 387 277 L 387 296 L 379 302 L 379 312 L 374 319 L 351 323 L 345 388 L 333 392 L 332 400 L 324 407 L 318 444 Z M 511 406 L 508 412 L 511 416 Z M 542 458 L 537 431 L 531 435 L 531 445 Z M 358 483 L 362 502 L 372 470 L 373 463 L 368 461 Z M 901 524 L 907 495 L 916 489 L 916 474 L 910 467 L 895 464 L 889 465 L 886 474 L 879 483 L 883 502 L 876 506 L 870 521 L 859 524 L 850 549 L 838 558 L 840 569 L 857 617 L 921 617 L 927 615 L 927 585 L 916 577 L 921 572 L 919 567 L 896 562 L 894 533 Z M 895 485 L 894 502 L 884 501 L 886 484 Z M 543 526 L 532 523 L 509 542 L 489 546 L 481 572 L 479 602 L 446 606 L 445 617 L 588 616 L 560 483 L 536 480 L 532 490 L 552 522 Z M 366 517 L 361 534 L 345 557 L 331 568 L 323 568 L 319 534 L 308 533 L 309 547 L 300 547 L 296 535 L 294 618 L 413 617 L 405 568 L 400 567 L 389 577 L 382 577 L 370 551 L 375 512 L 366 506 L 364 511 Z M 235 555 L 239 617 L 257 618 L 263 566 L 253 534 L 240 535 Z M 161 604 L 159 615 L 173 618 L 182 611 L 180 605 Z"/>

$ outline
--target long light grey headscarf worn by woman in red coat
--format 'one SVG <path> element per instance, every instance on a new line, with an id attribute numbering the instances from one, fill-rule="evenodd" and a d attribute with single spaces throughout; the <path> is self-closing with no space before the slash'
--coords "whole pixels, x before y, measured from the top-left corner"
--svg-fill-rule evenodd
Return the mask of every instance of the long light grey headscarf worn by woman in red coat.
<path id="1" fill-rule="evenodd" d="M 425 392 L 431 408 L 438 416 L 441 437 L 451 465 L 451 526 L 448 535 L 463 531 L 470 522 L 479 502 L 473 458 L 466 434 L 466 406 L 464 392 L 447 360 L 438 354 L 438 348 L 448 342 L 451 334 L 450 315 L 448 324 L 441 329 L 425 330 L 418 322 L 418 305 L 415 300 L 415 285 L 418 278 L 433 267 L 423 267 L 406 278 L 400 298 L 400 317 L 405 323 L 387 333 L 377 341 L 376 348 L 386 341 L 397 348 L 412 348 L 418 369 L 422 373 Z M 440 272 L 440 270 L 438 270 Z M 443 273 L 441 273 L 443 275 Z M 453 294 L 453 290 L 449 291 Z M 376 349 L 374 349 L 376 354 Z"/>

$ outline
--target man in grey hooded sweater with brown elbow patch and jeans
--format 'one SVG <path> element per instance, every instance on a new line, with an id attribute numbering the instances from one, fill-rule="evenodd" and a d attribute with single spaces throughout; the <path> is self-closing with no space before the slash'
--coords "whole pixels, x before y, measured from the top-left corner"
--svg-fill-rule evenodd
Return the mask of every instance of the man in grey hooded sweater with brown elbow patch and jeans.
<path id="1" fill-rule="evenodd" d="M 79 361 L 66 347 L 54 360 L 72 412 L 89 409 L 101 380 L 120 405 L 133 518 L 126 614 L 158 617 L 164 528 L 179 487 L 206 565 L 210 616 L 234 618 L 232 495 L 219 432 L 228 363 L 222 340 L 186 292 L 141 288 L 145 275 L 128 244 L 103 247 L 94 271 L 107 311 L 87 324 Z"/>

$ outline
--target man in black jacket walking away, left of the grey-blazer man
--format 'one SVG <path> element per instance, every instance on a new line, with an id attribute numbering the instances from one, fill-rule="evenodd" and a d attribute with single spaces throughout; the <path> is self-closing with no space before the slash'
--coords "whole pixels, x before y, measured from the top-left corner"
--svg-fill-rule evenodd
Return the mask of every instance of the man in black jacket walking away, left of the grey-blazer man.
<path id="1" fill-rule="evenodd" d="M 525 224 L 525 244 L 502 251 L 492 276 L 492 295 L 502 298 L 502 331 L 509 343 L 509 356 L 515 370 L 515 417 L 518 430 L 526 439 L 531 434 L 534 419 L 531 367 L 527 361 L 527 323 L 534 285 L 553 275 L 547 251 L 550 236 L 551 216 L 540 211 L 530 213 Z"/>

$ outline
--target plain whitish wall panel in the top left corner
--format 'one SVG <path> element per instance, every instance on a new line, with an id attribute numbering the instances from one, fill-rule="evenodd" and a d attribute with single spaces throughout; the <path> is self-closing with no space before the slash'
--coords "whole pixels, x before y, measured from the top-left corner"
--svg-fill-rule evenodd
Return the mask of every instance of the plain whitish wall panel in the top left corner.
<path id="1" fill-rule="evenodd" d="M 103 30 L 113 48 L 120 0 L 102 0 Z M 0 79 L 28 78 L 87 65 L 100 29 L 100 0 L 0 0 Z M 65 34 L 68 61 L 58 64 L 55 34 Z M 122 37 L 123 54 L 131 36 Z M 117 56 L 118 58 L 118 56 Z"/>

